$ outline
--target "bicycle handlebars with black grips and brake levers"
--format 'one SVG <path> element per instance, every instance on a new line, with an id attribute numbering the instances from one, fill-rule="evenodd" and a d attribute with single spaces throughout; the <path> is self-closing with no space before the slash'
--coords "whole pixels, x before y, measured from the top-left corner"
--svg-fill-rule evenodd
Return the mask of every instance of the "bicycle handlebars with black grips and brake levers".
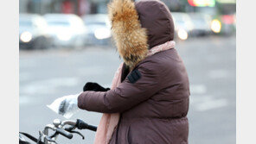
<path id="1" fill-rule="evenodd" d="M 69 127 L 65 127 L 69 125 Z M 73 134 L 80 135 L 82 139 L 85 139 L 85 136 L 82 135 L 79 131 L 75 131 L 75 129 L 78 128 L 80 130 L 82 129 L 89 129 L 92 131 L 96 131 L 97 127 L 93 125 L 89 125 L 86 122 L 83 122 L 80 119 L 77 119 L 76 121 L 72 120 L 65 120 L 61 122 L 60 119 L 54 119 L 53 124 L 48 124 L 45 126 L 43 131 L 39 131 L 39 138 L 36 139 L 34 136 L 29 135 L 27 133 L 19 132 L 19 144 L 30 144 L 30 142 L 25 141 L 25 139 L 22 137 L 22 135 L 25 135 L 28 137 L 31 141 L 34 141 L 36 144 L 58 144 L 56 142 L 58 135 L 62 135 L 67 137 L 68 139 L 73 138 Z M 54 131 L 54 134 L 49 135 L 49 129 Z"/>

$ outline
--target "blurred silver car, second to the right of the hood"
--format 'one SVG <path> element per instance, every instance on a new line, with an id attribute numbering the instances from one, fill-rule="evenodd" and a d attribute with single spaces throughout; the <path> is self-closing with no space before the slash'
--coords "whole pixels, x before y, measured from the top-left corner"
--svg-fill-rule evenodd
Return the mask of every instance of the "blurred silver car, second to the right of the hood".
<path id="1" fill-rule="evenodd" d="M 211 34 L 211 16 L 202 13 L 189 13 L 189 16 L 193 22 L 192 35 L 200 36 Z"/>

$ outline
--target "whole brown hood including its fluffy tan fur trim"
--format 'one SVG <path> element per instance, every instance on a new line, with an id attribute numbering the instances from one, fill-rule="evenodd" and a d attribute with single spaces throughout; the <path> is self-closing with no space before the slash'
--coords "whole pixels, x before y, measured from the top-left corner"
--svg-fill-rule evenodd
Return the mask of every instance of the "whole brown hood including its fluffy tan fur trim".
<path id="1" fill-rule="evenodd" d="M 158 0 L 112 0 L 108 13 L 118 53 L 130 69 L 146 57 L 150 48 L 173 40 L 170 10 Z"/>

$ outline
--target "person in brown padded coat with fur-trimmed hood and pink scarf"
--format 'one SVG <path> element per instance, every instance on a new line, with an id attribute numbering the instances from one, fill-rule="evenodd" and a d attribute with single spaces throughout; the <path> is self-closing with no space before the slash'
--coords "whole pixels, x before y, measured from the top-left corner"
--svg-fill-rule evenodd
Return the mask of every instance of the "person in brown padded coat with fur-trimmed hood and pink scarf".
<path id="1" fill-rule="evenodd" d="M 104 113 L 94 143 L 188 144 L 189 78 L 170 10 L 158 0 L 112 0 L 108 9 L 124 63 L 111 90 L 87 83 L 78 97 L 81 110 Z"/>

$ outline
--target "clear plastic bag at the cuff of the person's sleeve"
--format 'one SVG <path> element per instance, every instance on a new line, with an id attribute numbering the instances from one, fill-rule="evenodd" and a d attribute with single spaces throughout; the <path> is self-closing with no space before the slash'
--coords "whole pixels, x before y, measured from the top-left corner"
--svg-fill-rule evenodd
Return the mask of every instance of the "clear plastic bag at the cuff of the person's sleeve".
<path id="1" fill-rule="evenodd" d="M 64 97 L 59 97 L 54 100 L 53 103 L 47 105 L 50 110 L 53 110 L 55 113 L 64 116 L 69 119 L 75 113 L 79 111 L 77 106 L 77 98 L 79 94 L 76 95 L 68 95 Z"/>

